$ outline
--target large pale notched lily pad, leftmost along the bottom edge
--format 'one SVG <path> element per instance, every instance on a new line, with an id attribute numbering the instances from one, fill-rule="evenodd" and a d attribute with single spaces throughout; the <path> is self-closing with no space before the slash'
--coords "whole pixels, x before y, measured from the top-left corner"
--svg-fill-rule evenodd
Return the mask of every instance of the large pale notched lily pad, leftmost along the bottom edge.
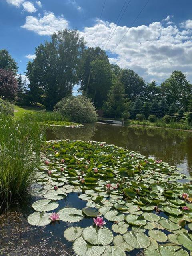
<path id="1" fill-rule="evenodd" d="M 106 246 L 93 246 L 88 244 L 82 236 L 73 243 L 73 250 L 78 256 L 100 256 L 104 253 Z"/>

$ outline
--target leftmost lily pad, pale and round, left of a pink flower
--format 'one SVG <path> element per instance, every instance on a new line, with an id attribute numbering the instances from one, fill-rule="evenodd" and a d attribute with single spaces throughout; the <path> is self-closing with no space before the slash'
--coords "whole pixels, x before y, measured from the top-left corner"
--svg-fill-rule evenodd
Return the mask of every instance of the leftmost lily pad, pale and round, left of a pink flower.
<path id="1" fill-rule="evenodd" d="M 34 212 L 30 214 L 27 218 L 30 225 L 45 226 L 50 224 L 51 220 L 46 212 Z"/>

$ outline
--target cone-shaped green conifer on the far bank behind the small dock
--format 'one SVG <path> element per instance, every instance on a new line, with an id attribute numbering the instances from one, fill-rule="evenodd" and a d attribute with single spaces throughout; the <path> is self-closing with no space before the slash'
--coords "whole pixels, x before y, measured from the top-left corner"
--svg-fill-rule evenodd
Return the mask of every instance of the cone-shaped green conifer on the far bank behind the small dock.
<path id="1" fill-rule="evenodd" d="M 122 83 L 115 82 L 112 85 L 104 109 L 110 117 L 117 118 L 122 116 L 126 109 L 125 90 Z"/>

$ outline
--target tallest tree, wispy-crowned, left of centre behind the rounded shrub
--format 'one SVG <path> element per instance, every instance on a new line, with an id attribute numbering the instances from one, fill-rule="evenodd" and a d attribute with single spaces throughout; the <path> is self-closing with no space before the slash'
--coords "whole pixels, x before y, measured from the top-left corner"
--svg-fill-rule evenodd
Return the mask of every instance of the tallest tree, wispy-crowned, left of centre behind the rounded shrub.
<path id="1" fill-rule="evenodd" d="M 36 58 L 28 62 L 30 98 L 33 103 L 44 99 L 47 109 L 53 109 L 62 98 L 72 94 L 79 82 L 79 66 L 85 49 L 84 38 L 77 30 L 62 30 L 51 36 L 51 41 L 40 44 Z"/>

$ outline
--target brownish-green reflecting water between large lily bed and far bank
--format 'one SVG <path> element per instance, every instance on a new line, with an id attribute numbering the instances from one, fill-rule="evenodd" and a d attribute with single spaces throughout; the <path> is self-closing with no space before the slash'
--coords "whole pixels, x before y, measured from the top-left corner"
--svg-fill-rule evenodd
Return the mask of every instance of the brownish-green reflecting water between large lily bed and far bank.
<path id="1" fill-rule="evenodd" d="M 162 159 L 192 172 L 192 132 L 149 127 L 122 127 L 107 124 L 85 124 L 82 128 L 54 127 L 47 130 L 47 140 L 78 139 L 105 141 L 108 144 Z"/>

